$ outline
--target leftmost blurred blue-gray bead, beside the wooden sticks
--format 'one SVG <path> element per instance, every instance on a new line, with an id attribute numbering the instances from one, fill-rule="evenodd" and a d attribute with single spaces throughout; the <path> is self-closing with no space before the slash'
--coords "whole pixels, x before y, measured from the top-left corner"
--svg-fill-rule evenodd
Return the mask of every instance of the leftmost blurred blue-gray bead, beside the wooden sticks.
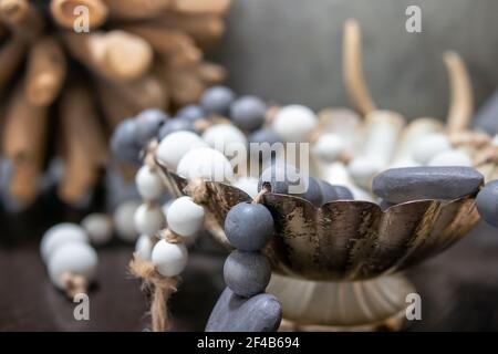
<path id="1" fill-rule="evenodd" d="M 128 118 L 121 122 L 111 138 L 113 155 L 123 162 L 138 163 L 142 146 L 136 140 L 136 121 Z"/>

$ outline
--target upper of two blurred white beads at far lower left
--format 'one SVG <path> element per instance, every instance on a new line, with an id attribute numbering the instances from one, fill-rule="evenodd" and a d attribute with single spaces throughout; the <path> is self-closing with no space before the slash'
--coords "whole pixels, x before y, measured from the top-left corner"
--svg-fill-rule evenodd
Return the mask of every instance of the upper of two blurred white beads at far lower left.
<path id="1" fill-rule="evenodd" d="M 46 262 L 50 256 L 61 246 L 74 242 L 89 242 L 89 236 L 82 227 L 71 222 L 51 227 L 44 233 L 40 244 L 40 253 L 43 261 Z"/>

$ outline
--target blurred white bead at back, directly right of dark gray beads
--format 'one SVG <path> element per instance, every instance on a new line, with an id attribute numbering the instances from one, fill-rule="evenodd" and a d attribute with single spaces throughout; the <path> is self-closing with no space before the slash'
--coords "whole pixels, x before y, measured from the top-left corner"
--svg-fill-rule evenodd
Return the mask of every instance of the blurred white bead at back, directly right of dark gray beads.
<path id="1" fill-rule="evenodd" d="M 273 131 L 283 142 L 309 140 L 310 133 L 318 126 L 318 117 L 307 106 L 293 104 L 279 110 L 273 119 Z"/>

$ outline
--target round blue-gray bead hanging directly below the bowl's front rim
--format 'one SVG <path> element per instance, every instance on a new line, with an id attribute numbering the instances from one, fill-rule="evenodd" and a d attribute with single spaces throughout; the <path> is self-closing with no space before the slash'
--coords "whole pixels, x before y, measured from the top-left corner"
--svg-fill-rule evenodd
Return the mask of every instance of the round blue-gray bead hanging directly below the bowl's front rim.
<path id="1" fill-rule="evenodd" d="M 225 235 L 235 248 L 257 251 L 273 235 L 273 217 L 263 205 L 239 202 L 225 218 Z"/>

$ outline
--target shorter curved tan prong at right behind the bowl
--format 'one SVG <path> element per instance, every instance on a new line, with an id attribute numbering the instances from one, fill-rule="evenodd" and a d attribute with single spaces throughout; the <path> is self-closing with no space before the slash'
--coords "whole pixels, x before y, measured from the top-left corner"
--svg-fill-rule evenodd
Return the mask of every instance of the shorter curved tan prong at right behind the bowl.
<path id="1" fill-rule="evenodd" d="M 456 52 L 446 52 L 444 61 L 449 75 L 450 101 L 448 108 L 448 133 L 467 129 L 474 114 L 470 77 L 461 58 Z"/>

